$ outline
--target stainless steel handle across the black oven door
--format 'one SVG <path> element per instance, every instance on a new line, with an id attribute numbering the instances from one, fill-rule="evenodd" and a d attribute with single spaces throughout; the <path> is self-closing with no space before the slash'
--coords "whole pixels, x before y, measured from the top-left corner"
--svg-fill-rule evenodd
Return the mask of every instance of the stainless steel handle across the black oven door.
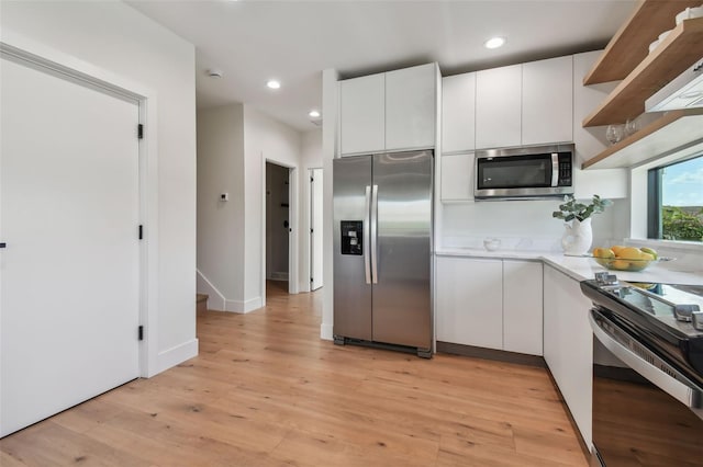
<path id="1" fill-rule="evenodd" d="M 699 417 L 703 418 L 703 389 L 699 388 L 695 384 L 693 384 L 689 378 L 683 376 L 677 369 L 672 368 L 669 365 L 666 365 L 666 363 L 661 362 L 661 358 L 659 358 L 657 354 L 655 354 L 644 345 L 639 345 L 637 341 L 633 340 L 633 345 L 637 349 L 637 352 L 634 352 L 633 350 L 623 345 L 609 332 L 601 328 L 601 326 L 593 317 L 594 314 L 599 314 L 598 309 L 592 309 L 591 312 L 589 312 L 589 321 L 591 322 L 593 334 L 595 334 L 598 340 L 601 341 L 601 343 L 609 351 L 611 351 L 613 355 L 622 360 L 623 363 L 627 364 L 635 372 L 639 373 L 649 381 L 657 385 L 661 390 L 677 399 L 679 402 L 692 409 Z M 599 316 L 601 317 L 601 319 L 609 321 L 612 326 L 617 327 L 617 324 L 607 320 L 602 315 L 599 314 Z M 649 363 L 645 358 L 665 365 L 666 371 L 673 374 L 674 376 L 665 373 L 658 366 Z"/>

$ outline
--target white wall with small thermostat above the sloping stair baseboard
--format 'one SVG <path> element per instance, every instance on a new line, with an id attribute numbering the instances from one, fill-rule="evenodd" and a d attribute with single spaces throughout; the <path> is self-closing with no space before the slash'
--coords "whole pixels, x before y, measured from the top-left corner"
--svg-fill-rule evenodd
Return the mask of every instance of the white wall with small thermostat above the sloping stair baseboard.
<path id="1" fill-rule="evenodd" d="M 244 203 L 243 105 L 198 111 L 198 292 L 211 309 L 244 297 Z"/>

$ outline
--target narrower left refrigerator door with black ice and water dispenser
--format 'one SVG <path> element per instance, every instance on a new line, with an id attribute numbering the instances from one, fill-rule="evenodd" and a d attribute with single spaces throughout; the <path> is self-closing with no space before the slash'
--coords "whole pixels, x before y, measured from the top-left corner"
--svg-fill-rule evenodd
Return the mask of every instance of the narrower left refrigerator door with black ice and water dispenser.
<path id="1" fill-rule="evenodd" d="M 370 242 L 368 236 L 371 157 L 334 160 L 334 329 L 335 335 L 370 341 L 371 284 L 367 284 Z M 367 190 L 368 187 L 368 190 Z M 368 203 L 367 203 L 368 198 Z M 360 223 L 361 255 L 342 254 L 342 223 Z M 344 229 L 348 236 L 348 228 Z"/>

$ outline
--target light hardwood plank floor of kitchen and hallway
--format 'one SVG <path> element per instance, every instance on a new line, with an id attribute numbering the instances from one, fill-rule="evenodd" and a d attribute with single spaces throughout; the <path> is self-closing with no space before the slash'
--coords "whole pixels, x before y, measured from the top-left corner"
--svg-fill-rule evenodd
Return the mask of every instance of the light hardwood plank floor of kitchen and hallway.
<path id="1" fill-rule="evenodd" d="M 0 465 L 588 465 L 545 369 L 335 346 L 322 291 L 199 314 L 198 357 L 0 440 Z"/>

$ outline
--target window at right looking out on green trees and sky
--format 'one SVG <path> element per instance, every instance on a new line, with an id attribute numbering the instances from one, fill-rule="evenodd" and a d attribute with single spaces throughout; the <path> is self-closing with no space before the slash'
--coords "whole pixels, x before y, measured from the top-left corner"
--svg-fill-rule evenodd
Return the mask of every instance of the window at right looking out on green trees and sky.
<path id="1" fill-rule="evenodd" d="M 703 156 L 650 169 L 647 237 L 703 241 Z"/>

